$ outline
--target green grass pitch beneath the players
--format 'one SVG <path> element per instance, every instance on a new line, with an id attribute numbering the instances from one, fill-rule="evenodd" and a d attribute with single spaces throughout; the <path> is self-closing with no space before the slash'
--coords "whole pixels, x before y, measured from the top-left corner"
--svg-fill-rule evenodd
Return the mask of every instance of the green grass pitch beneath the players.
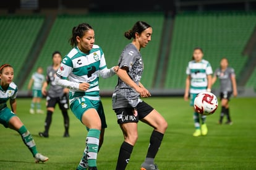
<path id="1" fill-rule="evenodd" d="M 53 114 L 49 138 L 40 138 L 46 114 L 28 113 L 31 99 L 17 99 L 17 114 L 33 135 L 38 151 L 49 157 L 36 164 L 30 151 L 14 130 L 0 127 L 0 169 L 75 169 L 85 148 L 87 130 L 69 110 L 70 137 L 63 138 L 63 118 L 58 106 Z M 98 154 L 98 169 L 113 170 L 123 141 L 111 98 L 102 98 L 108 128 L 105 142 Z M 207 117 L 208 135 L 193 137 L 192 108 L 183 98 L 151 97 L 151 104 L 168 121 L 168 129 L 155 163 L 161 170 L 169 169 L 256 169 L 255 98 L 232 98 L 233 125 L 218 125 L 220 106 Z M 45 100 L 42 101 L 45 109 Z M 224 119 L 224 121 L 226 121 Z M 127 170 L 140 168 L 145 158 L 151 127 L 139 122 L 139 139 L 127 165 Z"/>

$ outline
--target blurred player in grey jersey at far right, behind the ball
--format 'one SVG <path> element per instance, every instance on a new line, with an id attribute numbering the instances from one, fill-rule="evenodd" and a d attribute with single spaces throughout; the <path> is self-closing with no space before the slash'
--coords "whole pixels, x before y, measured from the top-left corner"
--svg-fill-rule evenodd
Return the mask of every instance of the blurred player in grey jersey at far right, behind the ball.
<path id="1" fill-rule="evenodd" d="M 236 87 L 236 74 L 232 67 L 228 66 L 228 59 L 223 58 L 220 62 L 220 67 L 215 70 L 213 81 L 215 83 L 217 79 L 220 79 L 220 98 L 221 98 L 221 114 L 218 124 L 222 124 L 223 117 L 226 115 L 228 121 L 226 124 L 233 124 L 229 114 L 229 100 L 231 95 L 237 96 Z"/>

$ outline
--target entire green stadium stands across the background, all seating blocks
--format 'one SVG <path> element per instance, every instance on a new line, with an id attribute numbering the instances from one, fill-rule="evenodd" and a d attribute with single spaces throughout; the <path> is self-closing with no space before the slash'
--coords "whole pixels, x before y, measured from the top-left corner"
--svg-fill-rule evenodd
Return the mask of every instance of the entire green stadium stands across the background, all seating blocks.
<path id="1" fill-rule="evenodd" d="M 1 63 L 8 62 L 15 68 L 15 80 L 25 80 L 21 90 L 27 90 L 28 80 L 36 67 L 46 67 L 51 61 L 53 51 L 61 51 L 62 56 L 71 49 L 69 38 L 72 28 L 81 22 L 87 22 L 95 30 L 95 44 L 101 46 L 105 53 L 108 67 L 117 64 L 122 49 L 130 40 L 124 37 L 124 32 L 132 28 L 137 20 L 145 20 L 153 27 L 152 41 L 141 53 L 145 63 L 142 83 L 150 90 L 183 90 L 186 79 L 187 62 L 192 57 L 193 48 L 203 48 L 204 59 L 210 61 L 213 71 L 219 66 L 221 57 L 227 57 L 230 65 L 236 70 L 239 79 L 247 56 L 242 51 L 256 26 L 255 12 L 179 12 L 173 23 L 166 23 L 166 15 L 161 12 L 124 12 L 124 13 L 90 13 L 83 15 L 58 15 L 49 26 L 49 32 L 41 34 L 45 37 L 40 45 L 35 62 L 29 64 L 30 54 L 46 28 L 45 17 L 42 15 L 8 15 L 0 16 L 1 30 Z M 169 48 L 168 60 L 159 61 L 163 57 L 163 37 L 168 35 L 169 27 L 173 26 L 173 35 Z M 158 68 L 159 63 L 166 68 Z M 22 68 L 28 67 L 30 72 L 20 76 Z M 163 71 L 166 72 L 163 73 Z M 162 75 L 161 83 L 157 76 Z M 245 83 L 246 87 L 255 87 L 256 69 Z M 18 82 L 19 83 L 19 82 Z M 100 80 L 102 91 L 112 91 L 117 83 L 117 77 Z M 159 86 L 159 84 L 163 86 Z M 218 87 L 218 82 L 214 88 Z"/>

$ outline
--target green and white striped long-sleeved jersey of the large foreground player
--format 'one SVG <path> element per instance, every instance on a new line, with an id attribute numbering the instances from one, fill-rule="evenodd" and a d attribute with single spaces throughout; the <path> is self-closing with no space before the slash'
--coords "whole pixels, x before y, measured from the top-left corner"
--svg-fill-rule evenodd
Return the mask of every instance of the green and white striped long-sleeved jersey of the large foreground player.
<path id="1" fill-rule="evenodd" d="M 104 70 L 104 73 L 101 70 Z M 101 73 L 106 76 L 102 76 Z M 93 45 L 89 54 L 83 53 L 76 46 L 62 59 L 55 82 L 70 88 L 69 101 L 71 104 L 75 98 L 81 96 L 90 100 L 100 100 L 99 76 L 106 79 L 114 74 L 113 69 L 107 69 L 105 56 L 100 46 Z M 68 81 L 59 81 L 59 79 Z M 79 83 L 83 82 L 90 83 L 87 91 L 79 90 Z"/>

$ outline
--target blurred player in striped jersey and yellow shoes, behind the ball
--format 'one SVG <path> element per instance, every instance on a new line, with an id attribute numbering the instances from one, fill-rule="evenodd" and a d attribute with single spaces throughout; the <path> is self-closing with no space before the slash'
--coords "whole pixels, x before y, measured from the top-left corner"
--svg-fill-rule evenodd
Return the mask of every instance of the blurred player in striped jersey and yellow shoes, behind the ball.
<path id="1" fill-rule="evenodd" d="M 211 74 L 213 74 L 213 70 L 210 62 L 203 59 L 202 48 L 194 48 L 192 61 L 189 61 L 189 64 L 187 65 L 186 74 L 187 79 L 184 100 L 189 100 L 190 95 L 190 106 L 192 106 L 194 110 L 195 122 L 195 132 L 193 136 L 198 137 L 200 135 L 207 135 L 208 129 L 207 124 L 205 123 L 207 116 L 197 113 L 194 109 L 194 100 L 198 93 L 211 91 Z M 201 126 L 200 119 L 202 121 Z"/>

